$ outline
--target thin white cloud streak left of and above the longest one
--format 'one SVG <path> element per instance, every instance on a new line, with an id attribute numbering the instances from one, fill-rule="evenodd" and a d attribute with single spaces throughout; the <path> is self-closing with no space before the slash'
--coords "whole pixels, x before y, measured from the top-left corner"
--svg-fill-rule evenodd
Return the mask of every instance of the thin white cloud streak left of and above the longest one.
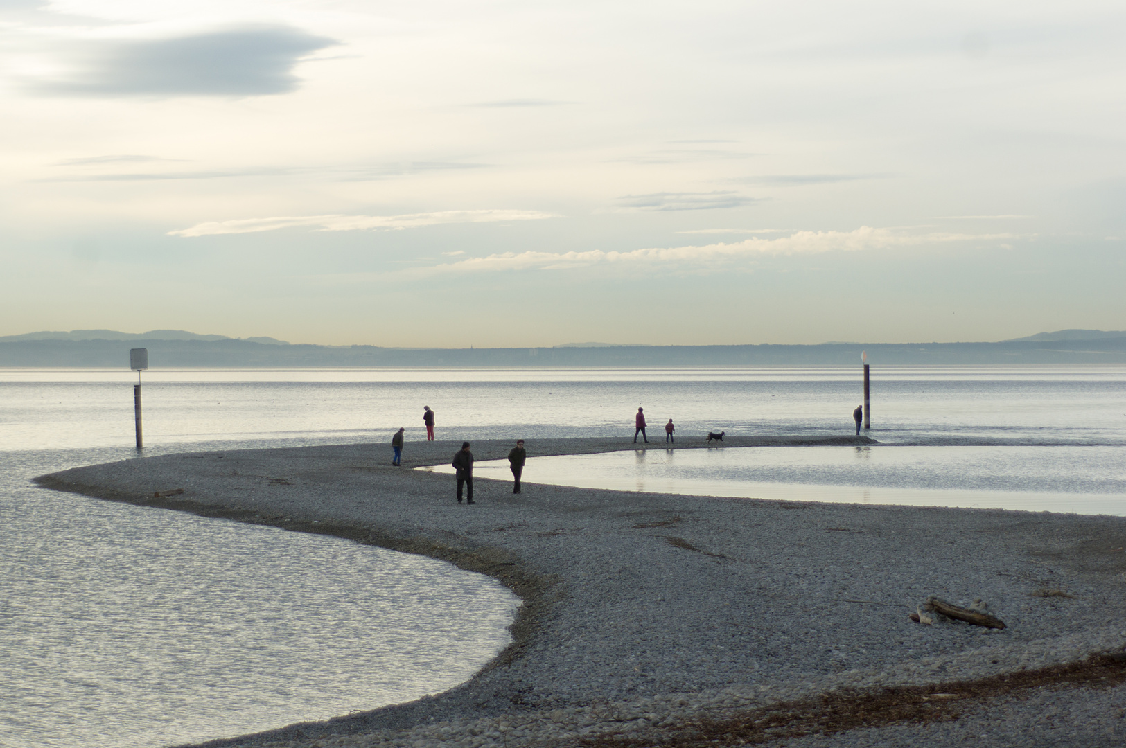
<path id="1" fill-rule="evenodd" d="M 211 220 L 168 233 L 170 236 L 209 236 L 214 234 L 253 234 L 298 227 L 315 228 L 316 231 L 403 229 L 437 224 L 480 224 L 557 217 L 556 214 L 538 210 L 444 210 L 439 213 L 410 213 L 402 216 L 275 216 L 271 218 Z"/>

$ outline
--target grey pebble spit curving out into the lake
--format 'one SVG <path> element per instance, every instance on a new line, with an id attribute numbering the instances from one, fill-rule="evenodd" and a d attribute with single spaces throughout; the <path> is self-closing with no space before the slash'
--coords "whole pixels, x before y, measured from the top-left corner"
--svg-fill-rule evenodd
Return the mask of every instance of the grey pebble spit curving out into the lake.
<path id="1" fill-rule="evenodd" d="M 743 438 L 730 445 L 858 443 L 875 442 Z M 457 447 L 408 444 L 404 468 L 444 463 Z M 474 453 L 500 459 L 509 447 L 475 442 Z M 635 445 L 529 443 L 536 456 L 623 449 Z M 694 714 L 734 714 L 841 687 L 998 676 L 1126 641 L 1126 553 L 1112 550 L 1126 544 L 1121 517 L 794 505 L 534 483 L 513 498 L 506 484 L 488 480 L 479 483 L 477 506 L 458 506 L 448 477 L 391 468 L 388 451 L 358 444 L 171 454 L 36 480 L 423 553 L 489 574 L 525 601 L 513 643 L 452 691 L 211 746 L 552 745 L 670 733 Z M 152 497 L 181 487 L 175 498 Z M 1074 596 L 1030 596 L 1045 580 Z M 1009 629 L 982 634 L 946 621 L 910 623 L 906 612 L 929 594 L 985 597 Z"/>

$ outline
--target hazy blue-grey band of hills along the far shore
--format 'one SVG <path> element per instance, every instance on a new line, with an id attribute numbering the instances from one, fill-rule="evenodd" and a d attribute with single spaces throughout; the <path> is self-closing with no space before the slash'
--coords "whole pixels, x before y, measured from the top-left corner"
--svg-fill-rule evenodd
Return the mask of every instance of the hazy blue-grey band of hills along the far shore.
<path id="1" fill-rule="evenodd" d="M 1063 331 L 1069 332 L 1069 331 Z M 1098 331 L 1088 331 L 1098 332 Z M 99 337 L 87 337 L 97 334 Z M 591 345 L 556 348 L 401 349 L 289 344 L 182 331 L 30 333 L 0 339 L 0 367 L 128 367 L 131 348 L 149 349 L 160 368 L 304 367 L 754 367 L 859 366 L 860 351 L 882 366 L 1092 364 L 1126 366 L 1126 333 L 1094 339 L 999 343 L 821 343 L 817 345 Z M 1055 334 L 1055 333 L 1046 333 Z M 66 335 L 66 337 L 59 337 Z M 161 337 L 161 335 L 177 335 Z M 73 337 L 72 337 L 73 336 Z"/>

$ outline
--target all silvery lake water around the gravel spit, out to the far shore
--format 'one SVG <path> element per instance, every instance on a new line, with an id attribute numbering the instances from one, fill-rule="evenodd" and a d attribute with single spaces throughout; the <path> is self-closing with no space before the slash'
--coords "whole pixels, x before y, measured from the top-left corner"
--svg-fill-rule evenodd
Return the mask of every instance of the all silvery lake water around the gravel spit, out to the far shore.
<path id="1" fill-rule="evenodd" d="M 517 601 L 479 575 L 34 487 L 36 475 L 135 457 L 135 381 L 118 370 L 0 370 L 0 746 L 160 746 L 323 719 L 448 688 L 507 643 Z M 688 476 L 745 489 L 734 496 L 765 485 L 778 498 L 1118 501 L 1124 385 L 1123 368 L 874 367 L 870 433 L 886 449 L 586 459 L 632 489 L 670 490 L 660 481 Z M 439 439 L 522 436 L 533 454 L 537 438 L 632 435 L 638 405 L 660 439 L 669 417 L 679 440 L 844 434 L 859 399 L 859 367 L 155 369 L 144 375 L 144 453 L 386 443 L 399 426 L 410 442 L 423 438 L 423 405 Z M 545 480 L 552 459 L 565 462 L 534 460 L 526 479 Z M 638 459 L 656 483 L 637 483 Z"/>

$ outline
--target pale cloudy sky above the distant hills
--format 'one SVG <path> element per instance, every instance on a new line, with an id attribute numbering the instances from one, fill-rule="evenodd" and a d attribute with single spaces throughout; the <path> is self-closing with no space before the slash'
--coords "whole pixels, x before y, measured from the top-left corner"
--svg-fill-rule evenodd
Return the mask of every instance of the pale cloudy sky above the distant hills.
<path id="1" fill-rule="evenodd" d="M 0 335 L 1126 330 L 1121 2 L 0 0 Z"/>

